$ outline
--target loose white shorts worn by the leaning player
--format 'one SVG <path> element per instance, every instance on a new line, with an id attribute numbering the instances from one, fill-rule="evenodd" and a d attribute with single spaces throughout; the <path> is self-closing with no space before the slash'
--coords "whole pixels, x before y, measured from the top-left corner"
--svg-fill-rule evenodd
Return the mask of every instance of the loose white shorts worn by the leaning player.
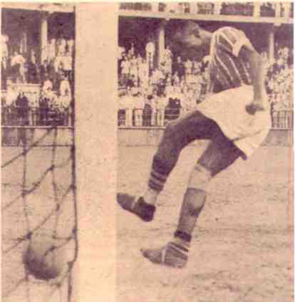
<path id="1" fill-rule="evenodd" d="M 247 157 L 262 144 L 271 127 L 269 103 L 264 98 L 267 110 L 249 115 L 245 106 L 252 102 L 253 86 L 224 90 L 209 95 L 198 105 L 197 110 L 207 118 L 214 120 L 224 135 L 234 142 Z"/>

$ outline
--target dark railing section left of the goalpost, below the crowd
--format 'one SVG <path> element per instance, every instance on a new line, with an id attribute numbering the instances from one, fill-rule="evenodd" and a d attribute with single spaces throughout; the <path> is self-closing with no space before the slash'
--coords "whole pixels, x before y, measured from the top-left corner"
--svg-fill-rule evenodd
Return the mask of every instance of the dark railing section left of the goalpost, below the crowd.
<path id="1" fill-rule="evenodd" d="M 69 126 L 72 125 L 69 108 L 1 108 L 2 126 Z"/>

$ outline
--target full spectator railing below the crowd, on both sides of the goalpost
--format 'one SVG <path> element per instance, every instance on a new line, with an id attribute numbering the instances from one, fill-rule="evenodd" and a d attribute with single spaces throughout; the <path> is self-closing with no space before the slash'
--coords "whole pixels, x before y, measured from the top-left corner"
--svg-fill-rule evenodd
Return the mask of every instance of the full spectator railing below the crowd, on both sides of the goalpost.
<path id="1" fill-rule="evenodd" d="M 165 127 L 187 110 L 183 108 L 121 109 L 118 110 L 118 127 Z M 275 129 L 293 129 L 293 110 L 274 110 L 271 124 Z M 2 126 L 72 126 L 71 109 L 19 108 L 1 109 Z"/>

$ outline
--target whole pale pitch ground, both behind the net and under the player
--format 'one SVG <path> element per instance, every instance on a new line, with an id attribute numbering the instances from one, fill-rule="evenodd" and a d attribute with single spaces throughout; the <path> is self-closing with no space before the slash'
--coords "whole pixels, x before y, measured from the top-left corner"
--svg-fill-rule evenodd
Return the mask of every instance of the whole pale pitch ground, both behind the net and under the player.
<path id="1" fill-rule="evenodd" d="M 204 147 L 204 146 L 203 146 Z M 195 230 L 186 269 L 150 264 L 140 248 L 161 246 L 177 224 L 187 178 L 203 147 L 187 147 L 160 195 L 155 221 L 150 224 L 117 208 L 118 302 L 291 302 L 293 262 L 291 227 L 291 150 L 262 147 L 247 161 L 238 160 L 212 181 L 204 212 Z M 2 148 L 2 164 L 21 152 Z M 119 147 L 118 192 L 138 194 L 145 189 L 154 147 Z M 56 165 L 70 156 L 66 147 L 56 149 Z M 28 225 L 36 227 L 54 205 L 53 183 L 58 198 L 71 184 L 71 165 L 48 173 L 38 188 L 10 205 L 24 184 L 30 189 L 51 165 L 52 148 L 34 148 L 2 170 L 2 296 L 5 302 L 66 302 L 67 286 L 55 290 L 50 283 L 24 281 L 21 255 Z M 115 202 L 115 201 L 114 201 Z M 26 204 L 26 207 L 24 205 Z M 37 234 L 57 230 L 69 236 L 73 221 L 73 197 L 48 219 Z M 87 206 L 87 205 L 86 205 Z M 70 246 L 73 250 L 73 246 Z M 82 301 L 83 302 L 83 301 Z M 103 301 L 108 302 L 108 301 Z"/>

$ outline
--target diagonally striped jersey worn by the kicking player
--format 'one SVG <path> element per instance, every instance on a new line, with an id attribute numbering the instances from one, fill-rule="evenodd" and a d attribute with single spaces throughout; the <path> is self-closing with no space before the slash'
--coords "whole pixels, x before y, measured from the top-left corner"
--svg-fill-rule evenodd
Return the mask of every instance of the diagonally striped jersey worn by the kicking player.
<path id="1" fill-rule="evenodd" d="M 242 46 L 253 48 L 244 34 L 232 27 L 222 27 L 212 35 L 210 45 L 210 81 L 211 92 L 251 85 L 249 62 L 239 57 Z"/>

